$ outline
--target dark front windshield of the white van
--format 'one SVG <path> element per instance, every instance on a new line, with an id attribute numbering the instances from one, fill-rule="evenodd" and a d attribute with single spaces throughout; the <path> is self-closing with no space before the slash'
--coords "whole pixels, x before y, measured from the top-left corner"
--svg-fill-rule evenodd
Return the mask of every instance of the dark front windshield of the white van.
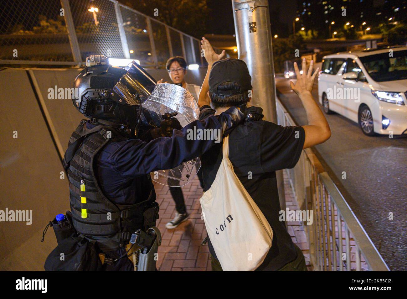
<path id="1" fill-rule="evenodd" d="M 407 50 L 360 57 L 374 81 L 407 79 Z"/>

